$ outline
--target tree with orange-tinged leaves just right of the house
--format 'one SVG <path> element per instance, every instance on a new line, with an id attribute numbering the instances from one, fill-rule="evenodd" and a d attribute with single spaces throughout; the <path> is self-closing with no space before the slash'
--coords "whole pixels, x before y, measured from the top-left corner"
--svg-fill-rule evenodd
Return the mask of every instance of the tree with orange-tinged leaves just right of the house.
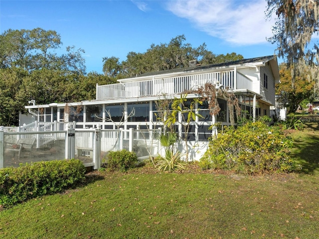
<path id="1" fill-rule="evenodd" d="M 295 84 L 292 85 L 291 69 L 287 69 L 284 63 L 280 64 L 279 68 L 281 83 L 276 85 L 276 94 L 281 95 L 280 101 L 283 105 L 287 106 L 288 112 L 296 112 L 298 105 L 300 105 L 303 100 L 312 102 L 315 96 L 315 81 L 305 80 L 306 76 L 296 76 Z"/>

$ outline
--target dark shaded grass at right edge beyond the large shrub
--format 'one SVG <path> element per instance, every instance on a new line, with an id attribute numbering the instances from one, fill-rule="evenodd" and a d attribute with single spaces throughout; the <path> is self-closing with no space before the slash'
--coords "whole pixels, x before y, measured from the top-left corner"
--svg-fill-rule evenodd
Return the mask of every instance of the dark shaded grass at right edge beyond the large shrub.
<path id="1" fill-rule="evenodd" d="M 305 130 L 296 135 L 292 157 L 301 166 L 297 172 L 302 174 L 319 172 L 319 122 L 305 122 Z"/>

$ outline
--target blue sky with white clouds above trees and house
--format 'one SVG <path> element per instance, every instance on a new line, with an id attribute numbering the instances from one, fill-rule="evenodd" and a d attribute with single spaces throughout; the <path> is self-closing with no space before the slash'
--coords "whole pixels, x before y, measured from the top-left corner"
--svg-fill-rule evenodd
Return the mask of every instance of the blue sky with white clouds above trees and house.
<path id="1" fill-rule="evenodd" d="M 102 73 L 103 57 L 126 60 L 152 43 L 184 34 L 215 54 L 245 58 L 272 55 L 274 19 L 266 20 L 266 0 L 0 0 L 0 33 L 7 29 L 55 30 L 62 48 L 85 50 L 87 72 Z"/>

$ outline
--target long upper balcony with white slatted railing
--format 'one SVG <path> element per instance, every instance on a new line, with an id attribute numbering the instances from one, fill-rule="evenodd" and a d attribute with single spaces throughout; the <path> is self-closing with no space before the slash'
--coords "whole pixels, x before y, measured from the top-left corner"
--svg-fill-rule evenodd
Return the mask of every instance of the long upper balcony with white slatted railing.
<path id="1" fill-rule="evenodd" d="M 185 91 L 196 90 L 209 82 L 217 82 L 223 88 L 248 89 L 252 90 L 252 80 L 240 74 L 236 70 L 209 72 L 201 74 L 192 74 L 183 76 L 174 76 L 168 78 L 153 77 L 153 79 L 131 81 L 125 83 L 97 85 L 96 99 L 127 99 L 150 97 L 160 95 L 177 95 Z"/>

